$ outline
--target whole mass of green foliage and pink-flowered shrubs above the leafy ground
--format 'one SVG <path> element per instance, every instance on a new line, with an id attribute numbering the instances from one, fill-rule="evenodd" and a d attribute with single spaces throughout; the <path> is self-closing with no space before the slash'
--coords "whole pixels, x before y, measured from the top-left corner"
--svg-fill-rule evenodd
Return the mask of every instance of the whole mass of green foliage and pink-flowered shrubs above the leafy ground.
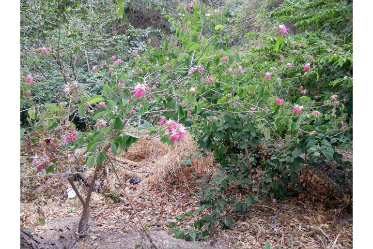
<path id="1" fill-rule="evenodd" d="M 299 172 L 326 161 L 338 167 L 323 177 L 341 197 L 352 195 L 352 165 L 336 151 L 352 149 L 352 1 L 211 6 L 22 0 L 23 143 L 59 145 L 30 168 L 69 173 L 82 160 L 97 172 L 139 134 L 172 146 L 188 131 L 219 172 L 197 179 L 201 208 L 177 218 L 204 214 L 196 230 L 174 230 L 187 240 L 231 227 L 226 208 L 245 213 L 301 192 Z M 157 26 L 143 27 L 133 13 Z M 232 186 L 244 202 L 226 193 Z"/>

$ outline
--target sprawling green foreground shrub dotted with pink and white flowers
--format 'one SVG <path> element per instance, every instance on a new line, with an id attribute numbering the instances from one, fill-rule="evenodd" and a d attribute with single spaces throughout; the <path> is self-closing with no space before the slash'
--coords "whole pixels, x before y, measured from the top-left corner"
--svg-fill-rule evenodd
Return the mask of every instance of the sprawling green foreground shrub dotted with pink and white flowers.
<path id="1" fill-rule="evenodd" d="M 66 100 L 65 104 L 39 104 L 23 99 L 42 83 L 31 76 L 21 80 L 21 100 L 32 104 L 27 111 L 27 132 L 51 134 L 64 145 L 64 150 L 51 150 L 42 161 L 35 161 L 36 169 L 53 172 L 54 158 L 63 157 L 69 164 L 83 160 L 98 172 L 103 163 L 111 162 L 111 156 L 135 143 L 141 132 L 172 146 L 188 131 L 202 151 L 214 155 L 219 167 L 215 175 L 198 179 L 203 191 L 201 208 L 194 214 L 207 210 L 208 215 L 194 223 L 200 233 L 193 238 L 189 233 L 189 239 L 211 233 L 225 208 L 244 213 L 247 206 L 269 194 L 283 199 L 288 192 L 301 191 L 297 177 L 304 167 L 317 169 L 325 160 L 336 161 L 341 185 L 351 168 L 335 151 L 336 146 L 352 147 L 351 40 L 334 47 L 342 40 L 330 39 L 333 35 L 321 32 L 320 27 L 295 35 L 279 22 L 271 30 L 276 37 L 268 35 L 263 46 L 242 51 L 222 42 L 229 40 L 224 33 L 229 26 L 205 18 L 209 10 L 204 4 L 190 2 L 177 11 L 180 15 L 165 14 L 174 40 L 164 40 L 158 49 L 134 50 L 124 63 L 118 59 L 122 55 L 108 53 L 102 64 L 94 66 L 91 74 L 100 80 L 94 94 L 85 91 L 79 77 L 65 73 L 54 46 L 47 54 L 35 54 L 39 62 L 46 57 L 55 61 L 65 81 Z M 280 21 L 297 21 L 304 28 L 302 18 L 313 18 L 293 13 L 280 8 L 271 15 L 281 17 Z M 149 110 L 152 99 L 162 107 Z M 162 116 L 151 126 L 143 121 L 151 115 Z M 75 117 L 90 118 L 93 125 L 77 131 Z M 133 118 L 143 123 L 129 129 Z M 79 150 L 85 152 L 69 156 Z M 263 173 L 261 183 L 254 185 L 253 176 L 259 172 Z M 232 185 L 246 195 L 244 203 L 225 193 Z M 175 234 L 187 238 L 179 229 Z"/>

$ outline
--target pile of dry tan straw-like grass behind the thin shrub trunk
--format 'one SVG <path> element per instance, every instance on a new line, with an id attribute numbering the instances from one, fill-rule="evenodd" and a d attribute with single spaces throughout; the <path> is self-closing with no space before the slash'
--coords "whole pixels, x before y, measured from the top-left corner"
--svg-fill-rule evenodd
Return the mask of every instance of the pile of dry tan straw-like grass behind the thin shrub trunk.
<path id="1" fill-rule="evenodd" d="M 211 170 L 216 170 L 213 156 L 188 156 L 189 153 L 196 152 L 197 148 L 189 133 L 173 146 L 162 143 L 159 138 L 147 140 L 147 137 L 141 137 L 141 140 L 132 144 L 127 152 L 117 157 L 117 162 L 123 165 L 120 167 L 120 175 L 124 179 L 134 176 L 142 178 L 143 182 L 149 185 L 188 185 L 195 182 L 191 173 L 203 176 Z M 181 165 L 184 160 L 190 160 L 191 165 Z"/>

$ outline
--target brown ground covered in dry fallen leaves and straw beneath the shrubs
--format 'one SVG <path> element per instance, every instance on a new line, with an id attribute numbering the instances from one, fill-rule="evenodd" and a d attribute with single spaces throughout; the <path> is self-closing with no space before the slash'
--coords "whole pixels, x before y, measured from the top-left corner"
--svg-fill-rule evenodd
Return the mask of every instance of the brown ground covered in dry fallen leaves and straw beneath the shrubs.
<path id="1" fill-rule="evenodd" d="M 154 150 L 150 144 L 146 146 Z M 184 153 L 187 147 L 176 146 L 174 149 Z M 136 150 L 135 147 L 133 149 Z M 167 228 L 170 221 L 199 207 L 199 197 L 194 195 L 199 186 L 195 179 L 187 177 L 193 169 L 179 168 L 156 178 L 152 177 L 154 174 L 141 175 L 136 172 L 148 172 L 151 165 L 144 163 L 144 160 L 150 159 L 154 165 L 157 164 L 155 160 L 163 160 L 162 165 L 168 168 L 165 155 L 174 155 L 174 149 L 163 152 L 163 156 L 159 156 L 160 152 L 155 150 L 157 158 L 152 153 L 145 153 L 140 158 L 125 157 L 122 160 L 134 160 L 135 164 L 124 164 L 126 168 L 119 170 L 132 205 L 159 248 L 352 248 L 351 200 L 343 200 L 323 177 L 312 170 L 299 177 L 305 190 L 297 196 L 283 202 L 268 198 L 263 203 L 251 205 L 245 215 L 237 215 L 228 209 L 223 215 L 233 216 L 233 229 L 217 227 L 216 233 L 202 242 L 172 238 L 172 230 Z M 344 152 L 343 156 L 347 160 L 352 159 L 351 153 Z M 175 160 L 174 157 L 171 159 Z M 208 159 L 202 165 L 199 162 L 203 169 L 199 170 L 198 175 L 212 169 L 206 166 L 207 162 Z M 193 164 L 196 162 L 193 161 Z M 160 169 L 155 171 L 159 172 Z M 59 248 L 133 249 L 135 245 L 149 248 L 123 190 L 112 175 L 101 176 L 97 192 L 93 192 L 88 237 L 77 240 L 74 235 L 82 207 L 77 197 L 66 197 L 64 190 L 70 186 L 68 183 L 60 184 L 59 176 L 40 180 L 34 183 L 36 187 L 31 186 L 31 182 L 28 182 L 29 186 L 23 182 L 21 226 L 54 241 L 61 240 L 61 234 L 65 234 L 63 245 Z M 137 184 L 129 183 L 132 176 L 141 176 L 142 180 Z M 86 186 L 80 185 L 80 189 L 84 188 Z M 115 190 L 118 195 L 110 194 L 107 189 Z M 239 196 L 241 193 L 235 191 L 234 194 Z M 195 219 L 187 218 L 177 223 L 183 228 L 191 228 Z"/>

